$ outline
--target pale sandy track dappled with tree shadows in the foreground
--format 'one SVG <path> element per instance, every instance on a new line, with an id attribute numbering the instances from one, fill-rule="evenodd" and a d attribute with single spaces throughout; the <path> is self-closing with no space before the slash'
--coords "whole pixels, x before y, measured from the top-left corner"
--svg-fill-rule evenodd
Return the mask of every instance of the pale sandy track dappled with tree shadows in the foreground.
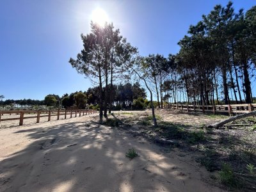
<path id="1" fill-rule="evenodd" d="M 221 191 L 191 157 L 90 116 L 0 129 L 0 191 Z"/>

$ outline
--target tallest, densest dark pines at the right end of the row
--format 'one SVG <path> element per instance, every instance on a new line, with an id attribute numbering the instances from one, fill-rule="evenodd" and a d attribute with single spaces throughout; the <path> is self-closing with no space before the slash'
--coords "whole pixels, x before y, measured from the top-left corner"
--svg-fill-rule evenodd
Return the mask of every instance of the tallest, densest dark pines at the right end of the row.
<path id="1" fill-rule="evenodd" d="M 216 5 L 180 40 L 179 81 L 189 103 L 252 102 L 256 61 L 256 6 L 234 12 Z"/>

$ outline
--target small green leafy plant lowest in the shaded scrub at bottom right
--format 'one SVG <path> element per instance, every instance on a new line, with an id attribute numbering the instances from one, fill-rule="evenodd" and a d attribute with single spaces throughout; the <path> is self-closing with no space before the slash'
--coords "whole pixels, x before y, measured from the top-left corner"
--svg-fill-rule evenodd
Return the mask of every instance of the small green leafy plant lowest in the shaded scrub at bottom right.
<path id="1" fill-rule="evenodd" d="M 226 186 L 234 187 L 236 185 L 236 180 L 234 177 L 234 172 L 230 164 L 224 163 L 222 169 L 219 172 L 220 181 Z"/>

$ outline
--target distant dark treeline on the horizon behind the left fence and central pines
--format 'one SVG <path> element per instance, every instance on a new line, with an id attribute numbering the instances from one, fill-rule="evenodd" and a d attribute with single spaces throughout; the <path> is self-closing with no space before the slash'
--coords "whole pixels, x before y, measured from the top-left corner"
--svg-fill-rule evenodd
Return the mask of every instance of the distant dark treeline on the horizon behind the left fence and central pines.
<path id="1" fill-rule="evenodd" d="M 103 89 L 103 95 L 105 94 Z M 147 94 L 139 83 L 125 83 L 113 85 L 113 109 L 144 109 L 147 107 Z M 99 104 L 99 87 L 88 88 L 86 92 L 66 93 L 62 97 L 55 94 L 45 96 L 44 100 L 33 99 L 6 99 L 0 100 L 1 106 L 53 106 L 55 108 L 76 107 L 84 109 L 93 108 Z"/>

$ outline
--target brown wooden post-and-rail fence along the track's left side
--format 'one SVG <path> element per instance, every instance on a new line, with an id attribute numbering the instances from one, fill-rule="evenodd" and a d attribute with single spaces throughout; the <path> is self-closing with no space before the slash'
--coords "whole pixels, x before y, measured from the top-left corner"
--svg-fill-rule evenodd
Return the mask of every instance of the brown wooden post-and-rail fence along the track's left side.
<path id="1" fill-rule="evenodd" d="M 0 123 L 3 121 L 12 121 L 19 120 L 19 125 L 23 125 L 23 120 L 28 118 L 36 118 L 36 123 L 40 122 L 40 117 L 48 116 L 48 121 L 51 121 L 51 116 L 57 116 L 57 120 L 60 120 L 60 116 L 64 115 L 64 119 L 70 115 L 70 118 L 74 115 L 74 117 L 90 115 L 93 113 L 97 113 L 96 110 L 93 109 L 67 109 L 67 110 L 39 110 L 39 111 L 29 111 L 29 110 L 13 110 L 13 111 L 0 111 Z M 19 115 L 19 117 L 15 118 L 4 118 L 4 115 Z M 24 116 L 24 114 L 36 114 L 34 116 Z"/>

